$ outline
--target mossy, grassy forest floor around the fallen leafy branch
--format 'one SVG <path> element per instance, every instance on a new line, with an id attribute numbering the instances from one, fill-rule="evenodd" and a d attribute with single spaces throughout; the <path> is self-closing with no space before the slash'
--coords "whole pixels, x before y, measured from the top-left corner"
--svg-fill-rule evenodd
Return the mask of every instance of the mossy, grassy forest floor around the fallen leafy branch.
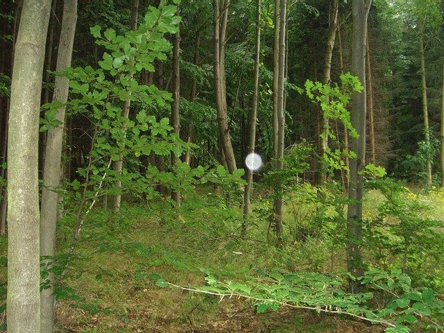
<path id="1" fill-rule="evenodd" d="M 202 268 L 220 270 L 233 278 L 273 266 L 323 272 L 331 269 L 325 248 L 315 244 L 295 244 L 286 252 L 266 244 L 267 221 L 256 221 L 250 230 L 251 239 L 227 236 L 238 234 L 236 228 L 230 231 L 227 225 L 238 223 L 240 210 L 214 207 L 210 204 L 212 196 L 187 200 L 176 211 L 167 200 L 148 206 L 123 205 L 119 214 L 94 210 L 85 221 L 76 256 L 69 263 L 67 284 L 61 286 L 65 294 L 75 291 L 78 300 L 66 297 L 58 302 L 58 332 L 384 332 L 383 327 L 348 317 L 286 308 L 257 314 L 253 304 L 245 300 L 220 300 L 157 287 L 154 275 L 182 287 L 202 286 Z M 370 196 L 366 214 L 372 214 L 381 200 L 377 193 Z M 443 216 L 443 208 L 437 210 L 436 214 Z M 61 223 L 60 249 L 68 248 L 69 230 L 71 222 Z M 0 239 L 0 246 L 6 253 L 6 237 Z M 343 255 L 337 253 L 334 271 L 343 269 Z M 6 282 L 3 268 L 0 282 Z"/>

